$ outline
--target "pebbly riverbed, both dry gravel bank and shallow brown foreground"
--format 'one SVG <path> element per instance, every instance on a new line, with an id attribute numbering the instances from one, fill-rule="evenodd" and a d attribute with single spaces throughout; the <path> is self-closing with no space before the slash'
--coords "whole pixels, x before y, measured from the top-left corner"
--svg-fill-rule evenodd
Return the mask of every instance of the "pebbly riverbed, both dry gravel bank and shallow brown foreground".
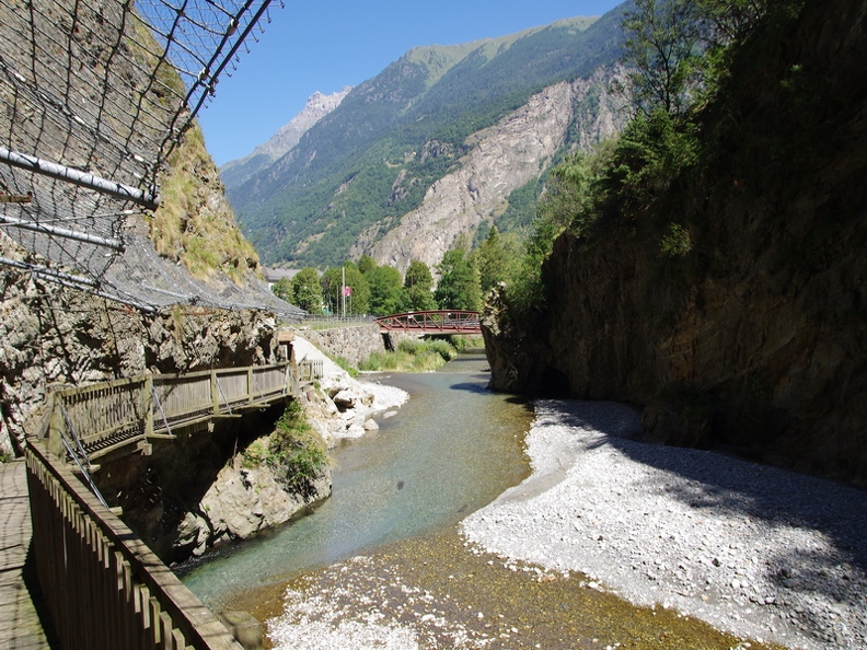
<path id="1" fill-rule="evenodd" d="M 867 647 L 864 491 L 636 442 L 621 404 L 535 409 L 531 476 L 459 533 L 275 588 L 275 647 Z"/>

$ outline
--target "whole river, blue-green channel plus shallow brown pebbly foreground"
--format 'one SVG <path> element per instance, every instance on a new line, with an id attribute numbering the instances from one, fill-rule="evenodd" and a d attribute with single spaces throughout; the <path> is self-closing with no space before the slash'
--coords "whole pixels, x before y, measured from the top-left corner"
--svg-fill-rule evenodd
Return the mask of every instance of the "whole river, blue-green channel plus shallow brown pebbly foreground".
<path id="1" fill-rule="evenodd" d="M 286 649 L 738 643 L 463 541 L 456 523 L 530 472 L 532 411 L 486 390 L 484 356 L 369 379 L 409 401 L 379 431 L 333 450 L 333 495 L 312 514 L 181 570 L 209 607 L 252 612 Z"/>

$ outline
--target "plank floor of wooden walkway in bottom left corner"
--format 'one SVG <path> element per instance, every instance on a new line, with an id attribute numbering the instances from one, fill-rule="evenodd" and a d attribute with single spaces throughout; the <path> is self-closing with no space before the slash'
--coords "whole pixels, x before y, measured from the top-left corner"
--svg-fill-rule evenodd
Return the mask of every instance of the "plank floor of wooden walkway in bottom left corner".
<path id="1" fill-rule="evenodd" d="M 31 546 L 27 473 L 23 461 L 0 464 L 0 650 L 59 648 L 43 629 Z"/>

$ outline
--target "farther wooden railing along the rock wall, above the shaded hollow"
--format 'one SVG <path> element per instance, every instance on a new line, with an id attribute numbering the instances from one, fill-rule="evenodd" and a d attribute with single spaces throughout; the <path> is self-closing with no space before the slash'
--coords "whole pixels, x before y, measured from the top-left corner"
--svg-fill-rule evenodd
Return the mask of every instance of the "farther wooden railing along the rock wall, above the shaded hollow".
<path id="1" fill-rule="evenodd" d="M 188 374 L 153 374 L 49 393 L 48 449 L 90 460 L 172 438 L 181 427 L 259 408 L 297 393 L 289 362 Z M 70 452 L 71 449 L 71 452 Z"/>

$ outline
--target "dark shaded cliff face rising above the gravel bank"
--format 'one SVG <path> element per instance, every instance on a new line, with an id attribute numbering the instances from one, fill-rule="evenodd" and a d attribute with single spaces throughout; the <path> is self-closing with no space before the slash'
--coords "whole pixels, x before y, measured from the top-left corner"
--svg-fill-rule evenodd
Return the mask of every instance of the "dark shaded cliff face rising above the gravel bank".
<path id="1" fill-rule="evenodd" d="M 695 173 L 558 240 L 544 313 L 492 306 L 496 387 L 636 403 L 648 440 L 867 485 L 866 9 L 811 5 L 745 44 Z M 672 221 L 684 257 L 661 253 Z"/>

